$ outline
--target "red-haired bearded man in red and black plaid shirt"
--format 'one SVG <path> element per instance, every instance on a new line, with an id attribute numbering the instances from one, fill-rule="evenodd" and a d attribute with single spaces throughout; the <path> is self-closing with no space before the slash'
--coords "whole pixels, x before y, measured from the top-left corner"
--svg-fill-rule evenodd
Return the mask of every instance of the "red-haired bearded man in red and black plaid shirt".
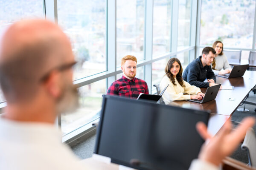
<path id="1" fill-rule="evenodd" d="M 108 88 L 107 95 L 126 96 L 137 99 L 140 93 L 148 94 L 148 85 L 136 78 L 137 58 L 131 55 L 125 56 L 121 60 L 123 76 L 114 81 Z"/>

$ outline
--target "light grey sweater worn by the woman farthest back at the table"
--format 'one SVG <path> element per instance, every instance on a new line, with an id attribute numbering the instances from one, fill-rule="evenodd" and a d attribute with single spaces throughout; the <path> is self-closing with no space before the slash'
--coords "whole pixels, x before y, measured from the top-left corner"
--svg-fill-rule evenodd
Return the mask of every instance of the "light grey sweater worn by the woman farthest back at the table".
<path id="1" fill-rule="evenodd" d="M 212 65 L 211 65 L 212 67 Z M 221 56 L 218 55 L 217 57 L 215 57 L 215 70 L 212 69 L 213 73 L 215 75 L 218 75 L 218 73 L 222 70 L 230 70 L 231 67 L 227 61 L 227 56 L 225 54 L 222 54 Z"/>

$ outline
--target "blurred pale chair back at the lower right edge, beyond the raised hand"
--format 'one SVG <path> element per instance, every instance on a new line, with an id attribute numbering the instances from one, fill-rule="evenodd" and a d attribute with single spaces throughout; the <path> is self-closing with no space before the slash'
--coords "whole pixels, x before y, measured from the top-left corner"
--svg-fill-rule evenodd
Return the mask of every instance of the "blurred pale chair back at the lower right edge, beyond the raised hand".
<path id="1" fill-rule="evenodd" d="M 247 130 L 241 149 L 247 150 L 249 165 L 256 167 L 256 136 L 253 128 Z"/>

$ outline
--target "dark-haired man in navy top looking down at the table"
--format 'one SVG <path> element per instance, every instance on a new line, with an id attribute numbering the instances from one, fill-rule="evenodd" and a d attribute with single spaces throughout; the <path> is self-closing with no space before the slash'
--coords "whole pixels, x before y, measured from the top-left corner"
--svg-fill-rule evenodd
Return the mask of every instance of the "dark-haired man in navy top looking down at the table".
<path id="1" fill-rule="evenodd" d="M 216 85 L 216 77 L 212 71 L 211 63 L 216 51 L 212 47 L 205 47 L 202 55 L 192 61 L 183 73 L 183 79 L 191 85 L 199 88 L 207 88 Z M 204 80 L 207 79 L 207 82 Z"/>

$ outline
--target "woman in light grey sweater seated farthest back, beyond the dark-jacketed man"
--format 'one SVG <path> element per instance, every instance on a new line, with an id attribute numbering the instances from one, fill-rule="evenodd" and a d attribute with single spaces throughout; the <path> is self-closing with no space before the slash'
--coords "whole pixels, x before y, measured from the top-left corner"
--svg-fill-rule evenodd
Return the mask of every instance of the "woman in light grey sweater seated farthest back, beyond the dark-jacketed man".
<path id="1" fill-rule="evenodd" d="M 227 61 L 227 56 L 222 52 L 223 43 L 221 41 L 215 41 L 212 48 L 214 48 L 216 51 L 215 58 L 211 64 L 212 71 L 215 75 L 229 74 L 231 67 Z"/>

